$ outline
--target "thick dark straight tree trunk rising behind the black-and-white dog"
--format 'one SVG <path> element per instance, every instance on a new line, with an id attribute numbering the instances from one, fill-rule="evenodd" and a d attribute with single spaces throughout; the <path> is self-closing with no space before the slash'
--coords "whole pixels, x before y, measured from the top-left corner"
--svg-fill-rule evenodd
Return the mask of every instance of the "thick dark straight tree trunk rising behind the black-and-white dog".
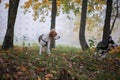
<path id="1" fill-rule="evenodd" d="M 110 35 L 110 21 L 111 21 L 111 13 L 112 13 L 112 2 L 113 2 L 113 0 L 107 0 L 106 16 L 105 16 L 105 21 L 104 21 L 102 41 L 107 41 L 108 37 Z"/>

